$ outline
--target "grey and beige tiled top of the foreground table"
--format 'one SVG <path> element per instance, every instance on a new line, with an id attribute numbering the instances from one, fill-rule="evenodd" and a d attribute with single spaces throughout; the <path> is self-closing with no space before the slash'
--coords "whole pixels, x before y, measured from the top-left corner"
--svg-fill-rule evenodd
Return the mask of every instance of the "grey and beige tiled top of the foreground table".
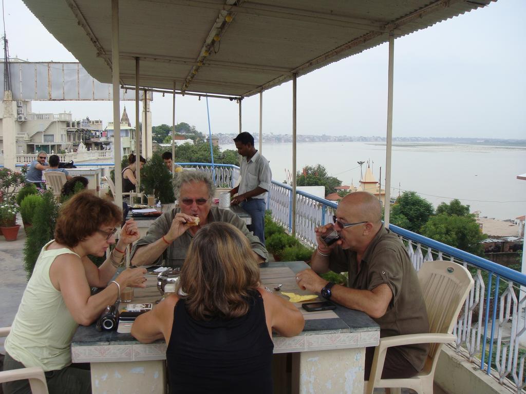
<path id="1" fill-rule="evenodd" d="M 270 289 L 282 283 L 280 292 L 312 294 L 302 291 L 296 285 L 295 275 L 307 268 L 304 262 L 271 262 L 261 266 L 261 282 Z M 136 292 L 132 303 L 152 302 L 159 299 L 157 274 L 148 275 L 149 286 Z M 281 295 L 288 299 L 288 297 Z M 315 302 L 316 299 L 310 302 Z M 337 306 L 334 310 L 306 312 L 301 304 L 295 304 L 305 317 L 305 328 L 301 334 L 292 338 L 273 335 L 274 352 L 296 352 L 308 350 L 330 350 L 377 346 L 380 327 L 365 313 Z M 166 344 L 164 340 L 153 344 L 140 344 L 131 334 L 116 331 L 99 332 L 95 324 L 79 326 L 72 340 L 73 362 L 112 362 L 164 359 Z"/>

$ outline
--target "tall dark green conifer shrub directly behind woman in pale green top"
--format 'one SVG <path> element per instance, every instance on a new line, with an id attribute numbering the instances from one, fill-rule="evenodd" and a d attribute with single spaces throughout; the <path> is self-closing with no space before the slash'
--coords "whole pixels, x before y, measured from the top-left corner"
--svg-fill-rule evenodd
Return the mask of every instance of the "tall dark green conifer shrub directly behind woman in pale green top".
<path id="1" fill-rule="evenodd" d="M 44 245 L 53 239 L 58 217 L 58 204 L 53 192 L 46 190 L 42 202 L 35 209 L 33 227 L 24 244 L 24 269 L 27 280 L 33 274 L 35 263 Z"/>

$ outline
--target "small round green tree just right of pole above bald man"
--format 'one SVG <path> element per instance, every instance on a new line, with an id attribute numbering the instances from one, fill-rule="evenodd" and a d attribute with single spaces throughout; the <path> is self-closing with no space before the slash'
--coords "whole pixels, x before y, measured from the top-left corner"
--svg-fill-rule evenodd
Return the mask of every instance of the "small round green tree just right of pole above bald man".
<path id="1" fill-rule="evenodd" d="M 433 205 L 429 201 L 421 198 L 416 192 L 407 191 L 392 205 L 390 222 L 414 233 L 420 233 L 420 229 L 433 212 Z"/>

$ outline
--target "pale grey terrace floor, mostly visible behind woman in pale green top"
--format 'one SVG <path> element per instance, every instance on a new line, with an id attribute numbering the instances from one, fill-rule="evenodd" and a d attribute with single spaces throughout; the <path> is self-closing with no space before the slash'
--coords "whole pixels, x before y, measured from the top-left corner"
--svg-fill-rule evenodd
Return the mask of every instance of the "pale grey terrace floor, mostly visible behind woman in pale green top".
<path id="1" fill-rule="evenodd" d="M 18 223 L 22 220 L 18 218 Z M 23 248 L 26 240 L 24 227 L 21 226 L 16 241 L 7 242 L 0 235 L 0 327 L 11 326 L 18 304 L 26 287 Z M 4 353 L 4 338 L 0 338 L 0 352 Z M 384 389 L 376 389 L 375 394 L 383 394 Z M 402 389 L 402 394 L 414 394 L 413 390 Z M 434 394 L 448 394 L 434 385 Z"/>

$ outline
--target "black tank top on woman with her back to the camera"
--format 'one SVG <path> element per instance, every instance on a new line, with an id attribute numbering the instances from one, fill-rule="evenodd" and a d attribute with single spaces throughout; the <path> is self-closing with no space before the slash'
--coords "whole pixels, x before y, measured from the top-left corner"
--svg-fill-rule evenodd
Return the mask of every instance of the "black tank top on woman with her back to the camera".
<path id="1" fill-rule="evenodd" d="M 272 393 L 274 343 L 256 293 L 249 312 L 230 320 L 194 320 L 184 299 L 177 302 L 166 349 L 170 394 Z"/>

